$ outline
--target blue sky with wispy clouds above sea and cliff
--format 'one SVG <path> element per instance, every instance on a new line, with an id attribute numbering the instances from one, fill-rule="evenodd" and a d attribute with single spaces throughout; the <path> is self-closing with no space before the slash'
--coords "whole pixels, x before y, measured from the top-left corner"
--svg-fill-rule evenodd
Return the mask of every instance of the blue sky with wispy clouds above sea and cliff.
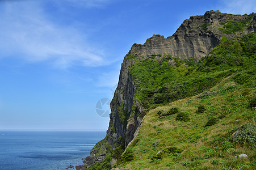
<path id="1" fill-rule="evenodd" d="M 107 130 L 132 44 L 209 10 L 256 1 L 0 0 L 0 130 Z"/>

